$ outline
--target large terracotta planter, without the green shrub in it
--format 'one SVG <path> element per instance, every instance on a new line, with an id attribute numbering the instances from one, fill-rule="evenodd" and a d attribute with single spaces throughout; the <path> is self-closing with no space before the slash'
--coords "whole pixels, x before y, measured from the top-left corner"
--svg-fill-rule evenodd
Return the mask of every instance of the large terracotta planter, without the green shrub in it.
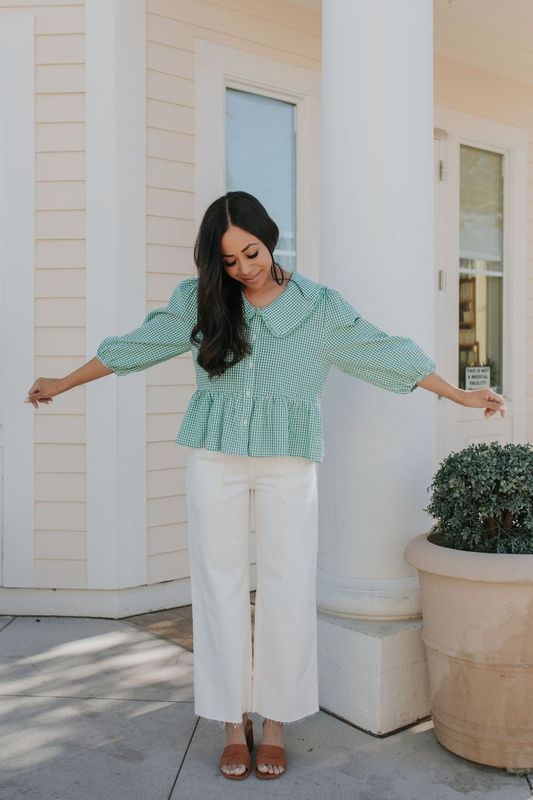
<path id="1" fill-rule="evenodd" d="M 412 539 L 437 740 L 479 764 L 533 768 L 533 555 Z"/>

